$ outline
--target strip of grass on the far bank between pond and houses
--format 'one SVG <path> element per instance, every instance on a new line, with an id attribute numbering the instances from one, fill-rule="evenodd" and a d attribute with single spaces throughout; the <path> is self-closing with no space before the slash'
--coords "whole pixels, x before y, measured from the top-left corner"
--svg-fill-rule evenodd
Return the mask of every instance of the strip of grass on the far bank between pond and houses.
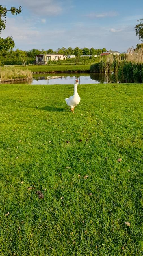
<path id="1" fill-rule="evenodd" d="M 34 65 L 19 67 L 20 69 L 29 69 L 31 72 L 90 72 L 90 64 L 81 64 L 81 65 Z"/>

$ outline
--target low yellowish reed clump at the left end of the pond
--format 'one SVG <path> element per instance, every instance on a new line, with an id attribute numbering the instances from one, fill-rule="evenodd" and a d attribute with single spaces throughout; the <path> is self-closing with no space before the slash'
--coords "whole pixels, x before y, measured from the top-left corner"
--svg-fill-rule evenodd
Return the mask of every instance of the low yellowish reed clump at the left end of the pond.
<path id="1" fill-rule="evenodd" d="M 22 79 L 32 79 L 32 73 L 26 69 L 17 68 L 0 68 L 0 80 L 1 82 L 12 81 L 12 80 L 22 80 Z"/>

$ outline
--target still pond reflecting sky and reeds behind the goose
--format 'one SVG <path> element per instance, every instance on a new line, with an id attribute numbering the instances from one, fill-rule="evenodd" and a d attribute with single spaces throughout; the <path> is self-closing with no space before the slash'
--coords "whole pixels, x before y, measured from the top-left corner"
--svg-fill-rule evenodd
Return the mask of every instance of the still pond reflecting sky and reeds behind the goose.
<path id="1" fill-rule="evenodd" d="M 78 79 L 79 84 L 118 83 L 117 74 L 105 73 L 47 73 L 33 74 L 28 81 L 13 81 L 8 84 L 73 84 Z"/>

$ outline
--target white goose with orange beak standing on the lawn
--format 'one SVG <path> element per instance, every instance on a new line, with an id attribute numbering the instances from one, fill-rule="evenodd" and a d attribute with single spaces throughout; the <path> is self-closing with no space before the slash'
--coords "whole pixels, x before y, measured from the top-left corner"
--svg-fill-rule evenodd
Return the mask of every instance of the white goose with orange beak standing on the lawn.
<path id="1" fill-rule="evenodd" d="M 73 96 L 70 96 L 70 98 L 66 98 L 66 104 L 71 108 L 71 111 L 74 113 L 74 107 L 77 106 L 81 100 L 77 93 L 77 85 L 78 85 L 78 80 L 76 79 L 74 82 L 74 94 Z"/>

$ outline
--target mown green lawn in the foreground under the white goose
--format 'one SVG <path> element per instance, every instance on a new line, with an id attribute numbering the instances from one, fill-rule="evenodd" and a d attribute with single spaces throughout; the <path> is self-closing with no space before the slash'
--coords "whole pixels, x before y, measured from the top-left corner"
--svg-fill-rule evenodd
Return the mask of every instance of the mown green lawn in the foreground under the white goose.
<path id="1" fill-rule="evenodd" d="M 78 92 L 0 86 L 1 255 L 142 255 L 142 84 Z"/>

